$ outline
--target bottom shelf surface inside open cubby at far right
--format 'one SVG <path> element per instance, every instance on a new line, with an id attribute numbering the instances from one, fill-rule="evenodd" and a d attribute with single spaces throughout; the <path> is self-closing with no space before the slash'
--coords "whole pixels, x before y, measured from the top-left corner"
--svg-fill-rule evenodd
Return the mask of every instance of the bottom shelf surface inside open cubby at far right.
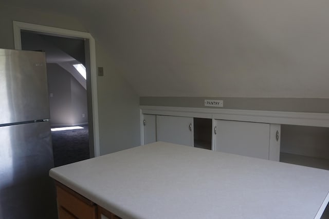
<path id="1" fill-rule="evenodd" d="M 329 160 L 317 157 L 302 156 L 281 152 L 280 162 L 329 170 Z"/>

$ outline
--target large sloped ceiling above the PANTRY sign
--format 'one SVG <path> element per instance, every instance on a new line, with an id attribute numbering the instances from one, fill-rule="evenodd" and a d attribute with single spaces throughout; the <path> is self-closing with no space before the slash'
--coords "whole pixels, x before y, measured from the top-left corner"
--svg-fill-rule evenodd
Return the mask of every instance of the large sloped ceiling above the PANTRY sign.
<path id="1" fill-rule="evenodd" d="M 78 17 L 140 96 L 329 98 L 326 0 L 24 2 Z"/>

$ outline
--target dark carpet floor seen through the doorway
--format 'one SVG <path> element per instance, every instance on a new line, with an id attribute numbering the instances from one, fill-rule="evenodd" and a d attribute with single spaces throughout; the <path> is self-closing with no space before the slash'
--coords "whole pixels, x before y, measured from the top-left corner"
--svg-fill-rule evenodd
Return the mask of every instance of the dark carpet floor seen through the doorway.
<path id="1" fill-rule="evenodd" d="M 52 131 L 54 166 L 86 160 L 89 155 L 88 126 L 83 129 Z"/>

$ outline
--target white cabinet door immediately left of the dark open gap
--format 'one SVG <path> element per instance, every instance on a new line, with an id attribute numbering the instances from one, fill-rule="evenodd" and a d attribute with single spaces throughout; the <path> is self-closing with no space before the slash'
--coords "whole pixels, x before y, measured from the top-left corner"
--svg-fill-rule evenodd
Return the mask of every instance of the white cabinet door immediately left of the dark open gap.
<path id="1" fill-rule="evenodd" d="M 157 141 L 193 147 L 193 118 L 191 117 L 157 115 L 156 129 Z"/>

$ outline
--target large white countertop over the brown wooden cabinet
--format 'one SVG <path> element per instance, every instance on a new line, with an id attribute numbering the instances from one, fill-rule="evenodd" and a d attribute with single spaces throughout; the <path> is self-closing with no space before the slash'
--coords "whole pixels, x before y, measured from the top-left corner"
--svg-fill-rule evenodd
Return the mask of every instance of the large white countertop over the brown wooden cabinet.
<path id="1" fill-rule="evenodd" d="M 157 142 L 50 170 L 122 218 L 320 218 L 329 171 Z"/>

